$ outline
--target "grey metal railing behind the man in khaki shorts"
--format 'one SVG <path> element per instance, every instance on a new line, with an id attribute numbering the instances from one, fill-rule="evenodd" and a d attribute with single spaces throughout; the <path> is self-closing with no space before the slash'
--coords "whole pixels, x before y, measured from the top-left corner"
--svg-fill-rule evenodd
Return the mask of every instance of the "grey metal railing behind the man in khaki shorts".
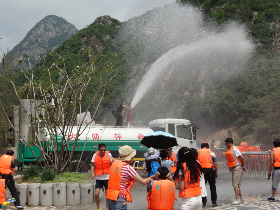
<path id="1" fill-rule="evenodd" d="M 218 162 L 226 162 L 226 148 L 211 149 L 215 153 Z M 270 151 L 263 152 L 241 152 L 245 158 L 245 166 L 247 171 L 245 176 L 265 177 L 269 170 Z"/>

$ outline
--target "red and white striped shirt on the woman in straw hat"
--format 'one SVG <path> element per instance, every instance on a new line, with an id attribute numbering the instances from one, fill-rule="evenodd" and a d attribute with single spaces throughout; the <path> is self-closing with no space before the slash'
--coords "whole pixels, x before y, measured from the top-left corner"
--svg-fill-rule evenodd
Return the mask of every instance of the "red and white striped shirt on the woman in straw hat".
<path id="1" fill-rule="evenodd" d="M 134 176 L 138 175 L 134 168 L 130 165 L 125 164 L 121 170 L 121 192 L 119 193 L 119 197 L 126 198 L 124 192 L 129 185 L 129 182 L 133 179 Z M 126 184 L 128 183 L 128 184 Z"/>

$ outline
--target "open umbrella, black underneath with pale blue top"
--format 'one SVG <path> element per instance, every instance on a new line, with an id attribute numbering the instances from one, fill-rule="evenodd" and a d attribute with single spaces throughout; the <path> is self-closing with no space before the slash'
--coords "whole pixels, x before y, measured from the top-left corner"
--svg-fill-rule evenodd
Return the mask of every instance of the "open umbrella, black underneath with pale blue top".
<path id="1" fill-rule="evenodd" d="M 168 149 L 178 145 L 175 136 L 163 131 L 148 133 L 140 143 L 148 148 L 153 147 L 157 149 Z"/>

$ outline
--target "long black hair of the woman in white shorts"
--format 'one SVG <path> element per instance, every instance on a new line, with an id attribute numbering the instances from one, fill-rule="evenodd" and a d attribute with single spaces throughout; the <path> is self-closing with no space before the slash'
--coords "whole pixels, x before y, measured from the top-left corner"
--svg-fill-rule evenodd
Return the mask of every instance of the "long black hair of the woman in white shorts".
<path id="1" fill-rule="evenodd" d="M 179 172 L 181 170 L 182 180 L 185 179 L 186 171 L 184 169 L 184 163 L 186 163 L 187 169 L 189 170 L 190 182 L 199 182 L 201 179 L 200 173 L 203 171 L 203 168 L 201 167 L 199 162 L 196 161 L 188 147 L 181 147 L 178 151 L 178 164 L 174 177 L 179 178 Z"/>

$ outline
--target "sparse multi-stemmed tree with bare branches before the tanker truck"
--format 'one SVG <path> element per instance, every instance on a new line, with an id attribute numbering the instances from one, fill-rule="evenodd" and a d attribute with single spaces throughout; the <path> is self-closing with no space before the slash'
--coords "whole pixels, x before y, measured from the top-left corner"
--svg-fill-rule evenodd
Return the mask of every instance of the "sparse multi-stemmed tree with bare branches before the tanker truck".
<path id="1" fill-rule="evenodd" d="M 26 68 L 23 66 L 22 60 L 19 60 L 19 71 L 26 80 L 26 84 L 23 84 L 21 88 L 25 87 L 25 98 L 30 100 L 30 104 L 36 103 L 36 99 L 44 99 L 46 93 L 50 93 L 56 99 L 54 109 L 51 109 L 49 102 L 45 99 L 44 103 L 36 104 L 37 115 L 42 116 L 42 110 L 46 110 L 46 119 L 41 117 L 38 119 L 32 114 L 32 110 L 29 112 L 25 110 L 29 123 L 31 123 L 29 129 L 32 139 L 31 144 L 28 144 L 26 140 L 24 141 L 37 160 L 39 160 L 39 157 L 35 155 L 30 145 L 34 145 L 40 150 L 41 158 L 43 158 L 46 166 L 51 165 L 58 172 L 70 170 L 70 162 L 79 136 L 86 130 L 86 127 L 82 127 L 82 124 L 78 126 L 76 138 L 74 141 L 71 140 L 72 148 L 70 148 L 70 137 L 73 126 L 76 125 L 77 114 L 81 113 L 81 110 L 87 112 L 91 107 L 94 107 L 95 111 L 91 113 L 92 119 L 88 122 L 88 126 L 90 126 L 91 122 L 105 109 L 110 98 L 110 87 L 118 73 L 112 62 L 113 59 L 111 59 L 116 54 L 93 54 L 91 50 L 85 50 L 84 53 L 85 61 L 70 70 L 66 67 L 63 56 L 53 52 L 51 54 L 47 53 L 47 56 L 41 59 L 39 52 L 38 57 L 41 62 L 38 69 L 40 77 L 38 76 L 38 69 Z M 3 68 L 5 69 L 4 58 L 5 55 L 2 58 Z M 12 85 L 20 106 L 26 109 L 21 101 L 19 87 L 15 86 L 9 74 L 6 74 L 5 78 Z M 89 91 L 89 89 L 91 90 Z M 21 136 L 8 119 L 3 103 L 0 99 L 1 108 L 10 126 Z M 81 121 L 84 118 L 85 116 Z M 36 131 L 36 123 L 39 120 L 42 126 L 39 133 L 46 138 L 47 145 L 44 141 L 40 141 L 40 135 Z M 43 124 L 46 126 L 43 126 Z M 48 151 L 45 151 L 46 147 Z"/>

